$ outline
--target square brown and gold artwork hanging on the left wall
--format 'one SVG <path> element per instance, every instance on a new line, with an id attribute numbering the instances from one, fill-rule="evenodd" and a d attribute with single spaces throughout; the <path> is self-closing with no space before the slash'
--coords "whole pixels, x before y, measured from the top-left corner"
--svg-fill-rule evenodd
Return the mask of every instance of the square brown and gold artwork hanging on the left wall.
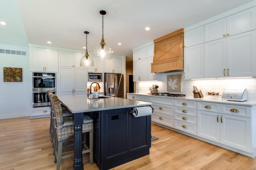
<path id="1" fill-rule="evenodd" d="M 4 67 L 4 82 L 22 82 L 22 68 Z"/>

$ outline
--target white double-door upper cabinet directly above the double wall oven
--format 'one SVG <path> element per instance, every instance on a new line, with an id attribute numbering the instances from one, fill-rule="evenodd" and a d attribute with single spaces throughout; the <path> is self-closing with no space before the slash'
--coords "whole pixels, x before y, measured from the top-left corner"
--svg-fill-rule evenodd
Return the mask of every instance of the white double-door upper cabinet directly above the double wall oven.
<path id="1" fill-rule="evenodd" d="M 58 50 L 30 47 L 30 71 L 58 72 Z"/>

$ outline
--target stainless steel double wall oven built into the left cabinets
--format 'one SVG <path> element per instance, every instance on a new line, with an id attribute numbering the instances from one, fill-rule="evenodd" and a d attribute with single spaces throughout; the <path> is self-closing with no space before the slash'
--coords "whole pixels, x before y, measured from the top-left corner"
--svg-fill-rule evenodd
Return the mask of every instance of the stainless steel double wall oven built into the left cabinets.
<path id="1" fill-rule="evenodd" d="M 47 90 L 55 94 L 56 76 L 55 73 L 32 73 L 33 83 L 33 107 L 50 106 Z"/>

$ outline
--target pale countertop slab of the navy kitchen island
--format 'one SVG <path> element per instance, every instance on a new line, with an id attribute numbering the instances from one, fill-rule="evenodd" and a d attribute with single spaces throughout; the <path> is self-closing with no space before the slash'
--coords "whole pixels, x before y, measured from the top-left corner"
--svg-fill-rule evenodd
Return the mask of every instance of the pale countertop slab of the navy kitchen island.
<path id="1" fill-rule="evenodd" d="M 128 107 L 148 106 L 152 103 L 129 100 L 123 98 L 101 98 L 99 100 L 88 99 L 87 95 L 58 96 L 59 100 L 72 113 L 82 113 L 90 111 L 101 111 L 111 109 L 122 109 Z"/>

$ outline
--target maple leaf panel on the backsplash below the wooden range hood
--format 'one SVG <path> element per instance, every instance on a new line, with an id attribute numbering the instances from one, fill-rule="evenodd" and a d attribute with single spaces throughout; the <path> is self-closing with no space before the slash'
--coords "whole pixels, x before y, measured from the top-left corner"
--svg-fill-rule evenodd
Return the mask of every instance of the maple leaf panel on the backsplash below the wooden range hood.
<path id="1" fill-rule="evenodd" d="M 167 75 L 167 91 L 181 92 L 182 74 Z"/>

